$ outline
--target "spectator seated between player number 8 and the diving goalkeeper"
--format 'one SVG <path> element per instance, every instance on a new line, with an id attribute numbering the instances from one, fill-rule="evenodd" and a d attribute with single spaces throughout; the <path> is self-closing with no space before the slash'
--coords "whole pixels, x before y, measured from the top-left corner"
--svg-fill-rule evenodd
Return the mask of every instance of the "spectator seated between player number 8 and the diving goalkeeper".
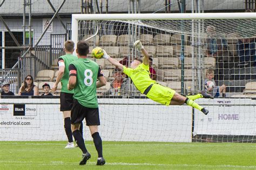
<path id="1" fill-rule="evenodd" d="M 113 76 L 114 80 L 111 81 L 110 89 L 101 93 L 103 96 L 134 96 L 134 90 L 130 83 L 130 79 L 126 78 L 124 73 L 115 69 Z"/>

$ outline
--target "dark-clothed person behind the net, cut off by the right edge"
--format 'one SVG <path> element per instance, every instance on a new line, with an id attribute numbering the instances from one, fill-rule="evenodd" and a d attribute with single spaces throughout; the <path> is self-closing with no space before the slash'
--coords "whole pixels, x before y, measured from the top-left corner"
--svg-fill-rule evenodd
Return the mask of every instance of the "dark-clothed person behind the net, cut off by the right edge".
<path id="1" fill-rule="evenodd" d="M 254 62 L 255 57 L 255 38 L 243 38 L 238 40 L 238 56 L 239 56 L 239 64 L 240 67 L 250 67 L 251 64 L 256 66 Z M 251 63 L 253 61 L 253 63 Z"/>

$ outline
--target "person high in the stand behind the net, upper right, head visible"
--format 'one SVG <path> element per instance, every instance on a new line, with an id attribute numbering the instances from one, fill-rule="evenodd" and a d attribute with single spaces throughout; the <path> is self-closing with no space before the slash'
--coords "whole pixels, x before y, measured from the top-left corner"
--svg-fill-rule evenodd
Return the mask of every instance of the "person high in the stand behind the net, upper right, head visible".
<path id="1" fill-rule="evenodd" d="M 218 62 L 228 62 L 227 40 L 217 38 L 219 35 L 217 35 L 215 27 L 212 25 L 207 26 L 206 32 L 209 36 L 206 39 L 207 57 L 215 57 Z"/>

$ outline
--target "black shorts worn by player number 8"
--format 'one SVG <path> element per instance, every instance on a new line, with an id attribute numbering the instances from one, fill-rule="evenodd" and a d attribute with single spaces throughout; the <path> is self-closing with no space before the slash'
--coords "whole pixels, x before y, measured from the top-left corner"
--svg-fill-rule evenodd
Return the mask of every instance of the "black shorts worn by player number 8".
<path id="1" fill-rule="evenodd" d="M 74 99 L 71 110 L 71 124 L 80 124 L 84 118 L 87 126 L 100 125 L 99 108 L 84 107 Z"/>

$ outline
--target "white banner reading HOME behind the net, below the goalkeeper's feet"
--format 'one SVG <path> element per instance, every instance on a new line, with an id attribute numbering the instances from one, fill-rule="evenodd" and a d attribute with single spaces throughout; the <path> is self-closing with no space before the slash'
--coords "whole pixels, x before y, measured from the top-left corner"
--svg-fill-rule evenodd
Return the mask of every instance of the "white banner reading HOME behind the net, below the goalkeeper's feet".
<path id="1" fill-rule="evenodd" d="M 205 106 L 209 113 L 195 111 L 193 134 L 256 135 L 255 107 L 222 103 Z"/>

